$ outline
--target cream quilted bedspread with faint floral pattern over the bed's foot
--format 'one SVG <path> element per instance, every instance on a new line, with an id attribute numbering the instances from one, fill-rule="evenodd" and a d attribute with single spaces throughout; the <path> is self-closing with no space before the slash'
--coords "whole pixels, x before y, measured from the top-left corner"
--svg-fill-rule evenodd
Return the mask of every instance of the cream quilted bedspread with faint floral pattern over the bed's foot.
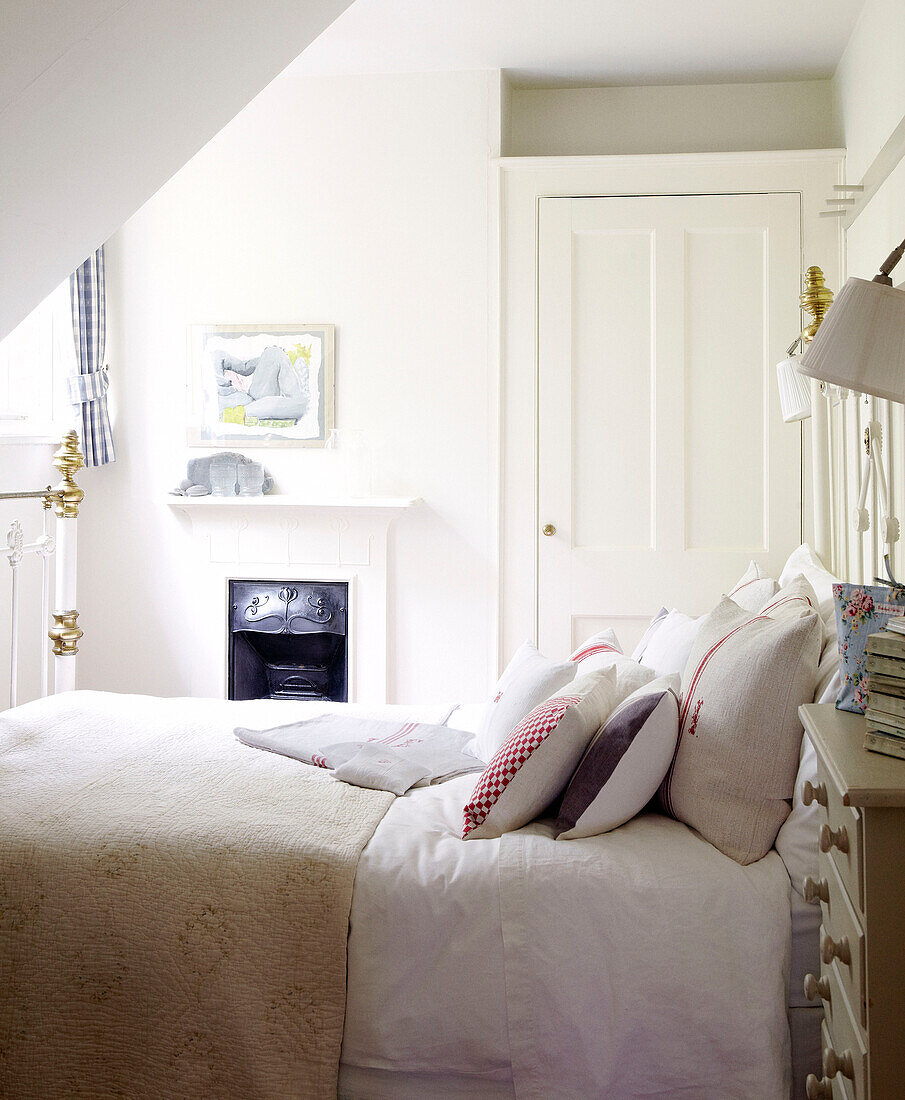
<path id="1" fill-rule="evenodd" d="M 0 1096 L 335 1097 L 355 869 L 393 795 L 233 738 L 285 707 L 0 716 Z"/>

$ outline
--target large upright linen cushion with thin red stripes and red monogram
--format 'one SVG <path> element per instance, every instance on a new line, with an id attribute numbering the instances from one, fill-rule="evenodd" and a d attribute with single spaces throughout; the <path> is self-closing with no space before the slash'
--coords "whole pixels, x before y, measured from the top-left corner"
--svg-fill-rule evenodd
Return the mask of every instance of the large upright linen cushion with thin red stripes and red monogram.
<path id="1" fill-rule="evenodd" d="M 792 605 L 797 606 L 797 603 Z M 678 745 L 660 789 L 667 814 L 739 864 L 761 859 L 788 816 L 814 696 L 820 620 L 751 616 L 728 597 L 707 616 L 685 674 Z"/>

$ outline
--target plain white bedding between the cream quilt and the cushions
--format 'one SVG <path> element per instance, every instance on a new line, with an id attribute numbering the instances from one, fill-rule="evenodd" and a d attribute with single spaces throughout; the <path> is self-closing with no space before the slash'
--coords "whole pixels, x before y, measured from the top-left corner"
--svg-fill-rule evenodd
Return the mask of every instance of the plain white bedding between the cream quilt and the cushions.
<path id="1" fill-rule="evenodd" d="M 659 815 L 585 840 L 539 823 L 463 844 L 472 785 L 397 799 L 363 853 L 344 1094 L 409 1094 L 371 1067 L 420 1075 L 423 1096 L 787 1096 L 775 853 L 740 867 Z"/>

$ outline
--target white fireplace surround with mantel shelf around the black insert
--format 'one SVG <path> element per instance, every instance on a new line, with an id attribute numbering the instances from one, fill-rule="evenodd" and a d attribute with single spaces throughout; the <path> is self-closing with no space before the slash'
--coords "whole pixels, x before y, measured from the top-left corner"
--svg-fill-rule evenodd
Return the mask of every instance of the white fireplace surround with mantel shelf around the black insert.
<path id="1" fill-rule="evenodd" d="M 350 702 L 387 697 L 387 536 L 412 497 L 327 501 L 264 497 L 173 497 L 194 549 L 199 607 L 222 623 L 217 662 L 192 674 L 194 695 L 228 692 L 230 581 L 347 584 L 346 675 Z M 235 602 L 235 601 L 233 601 Z"/>

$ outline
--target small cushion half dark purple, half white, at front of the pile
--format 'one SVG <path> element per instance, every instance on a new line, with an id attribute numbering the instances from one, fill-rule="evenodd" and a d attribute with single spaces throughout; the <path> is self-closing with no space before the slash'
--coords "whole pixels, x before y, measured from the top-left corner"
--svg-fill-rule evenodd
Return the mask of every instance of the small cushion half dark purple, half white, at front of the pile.
<path id="1" fill-rule="evenodd" d="M 661 676 L 611 712 L 565 789 L 558 840 L 608 833 L 656 794 L 678 737 L 678 676 Z"/>

